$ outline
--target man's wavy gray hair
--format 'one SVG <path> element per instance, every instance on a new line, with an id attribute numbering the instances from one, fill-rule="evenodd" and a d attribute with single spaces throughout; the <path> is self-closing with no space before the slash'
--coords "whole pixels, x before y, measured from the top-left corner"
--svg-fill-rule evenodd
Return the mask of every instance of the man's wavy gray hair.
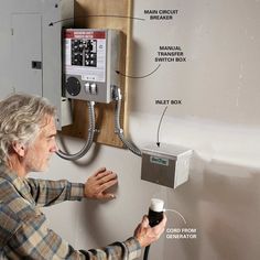
<path id="1" fill-rule="evenodd" d="M 47 99 L 13 94 L 0 101 L 0 162 L 7 163 L 13 142 L 29 145 L 36 138 L 45 116 L 55 116 Z"/>

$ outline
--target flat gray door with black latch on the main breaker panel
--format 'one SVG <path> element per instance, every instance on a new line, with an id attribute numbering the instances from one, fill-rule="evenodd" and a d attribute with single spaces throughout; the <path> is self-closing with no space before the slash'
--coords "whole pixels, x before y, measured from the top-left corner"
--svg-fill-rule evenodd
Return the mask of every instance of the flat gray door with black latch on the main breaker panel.
<path id="1" fill-rule="evenodd" d="M 42 18 L 37 13 L 15 13 L 12 19 L 11 59 L 15 91 L 43 95 Z"/>

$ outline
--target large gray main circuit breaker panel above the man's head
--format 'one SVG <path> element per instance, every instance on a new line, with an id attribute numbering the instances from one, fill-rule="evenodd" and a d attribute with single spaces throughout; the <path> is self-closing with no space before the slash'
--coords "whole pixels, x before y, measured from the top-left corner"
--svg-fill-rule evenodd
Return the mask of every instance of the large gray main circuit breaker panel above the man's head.
<path id="1" fill-rule="evenodd" d="M 62 111 L 62 29 L 73 23 L 74 0 L 1 0 L 0 99 L 11 93 L 46 97 L 57 108 L 58 129 L 67 116 Z"/>

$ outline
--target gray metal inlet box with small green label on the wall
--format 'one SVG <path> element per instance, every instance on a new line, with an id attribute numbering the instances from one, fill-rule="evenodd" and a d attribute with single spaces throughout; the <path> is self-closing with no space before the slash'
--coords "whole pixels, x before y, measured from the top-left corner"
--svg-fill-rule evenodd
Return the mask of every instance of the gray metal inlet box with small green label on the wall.
<path id="1" fill-rule="evenodd" d="M 188 180 L 192 154 L 192 149 L 180 145 L 148 145 L 142 150 L 141 180 L 176 188 Z"/>

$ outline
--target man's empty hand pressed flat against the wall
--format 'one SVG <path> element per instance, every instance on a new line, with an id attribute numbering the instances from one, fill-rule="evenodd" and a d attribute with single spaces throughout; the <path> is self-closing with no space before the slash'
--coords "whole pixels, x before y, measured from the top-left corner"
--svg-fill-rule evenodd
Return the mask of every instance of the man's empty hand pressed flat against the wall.
<path id="1" fill-rule="evenodd" d="M 88 198 L 115 198 L 112 193 L 107 193 L 106 189 L 117 184 L 117 174 L 107 171 L 106 167 L 99 169 L 85 183 L 84 195 Z"/>

